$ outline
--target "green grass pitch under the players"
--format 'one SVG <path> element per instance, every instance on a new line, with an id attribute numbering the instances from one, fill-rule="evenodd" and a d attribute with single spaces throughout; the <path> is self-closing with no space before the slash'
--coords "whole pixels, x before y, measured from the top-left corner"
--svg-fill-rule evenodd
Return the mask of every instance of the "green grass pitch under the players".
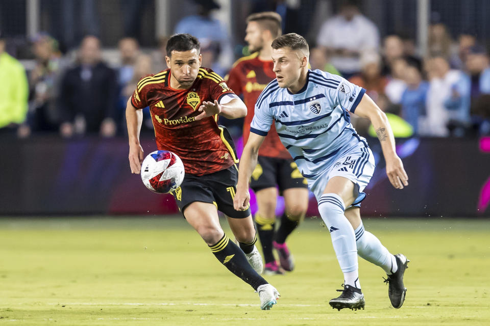
<path id="1" fill-rule="evenodd" d="M 365 310 L 328 305 L 342 275 L 319 219 L 290 237 L 297 268 L 267 278 L 282 296 L 261 311 L 257 293 L 182 218 L 3 218 L 0 324 L 490 324 L 490 220 L 379 218 L 364 226 L 411 260 L 401 309 L 389 304 L 381 268 L 361 259 Z"/>

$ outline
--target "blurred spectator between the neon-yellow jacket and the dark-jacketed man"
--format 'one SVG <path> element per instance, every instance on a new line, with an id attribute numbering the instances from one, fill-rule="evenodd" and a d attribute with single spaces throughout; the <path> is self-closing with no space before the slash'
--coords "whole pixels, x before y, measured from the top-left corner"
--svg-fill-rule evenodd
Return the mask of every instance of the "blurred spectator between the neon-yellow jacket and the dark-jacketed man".
<path id="1" fill-rule="evenodd" d="M 56 131 L 59 123 L 56 99 L 64 63 L 58 42 L 46 33 L 39 33 L 33 39 L 33 52 L 36 65 L 29 76 L 29 115 L 28 124 L 21 127 L 23 137 L 31 131 Z"/>

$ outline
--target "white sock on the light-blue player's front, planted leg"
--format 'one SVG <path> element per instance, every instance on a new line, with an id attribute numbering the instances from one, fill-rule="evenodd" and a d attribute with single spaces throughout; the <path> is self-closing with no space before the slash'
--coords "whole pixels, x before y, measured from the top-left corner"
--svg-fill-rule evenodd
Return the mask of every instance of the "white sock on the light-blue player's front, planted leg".
<path id="1" fill-rule="evenodd" d="M 356 237 L 351 224 L 344 216 L 344 201 L 337 194 L 323 194 L 318 200 L 318 211 L 330 231 L 333 249 L 344 273 L 344 283 L 357 287 L 356 282 L 359 284 L 359 278 Z"/>

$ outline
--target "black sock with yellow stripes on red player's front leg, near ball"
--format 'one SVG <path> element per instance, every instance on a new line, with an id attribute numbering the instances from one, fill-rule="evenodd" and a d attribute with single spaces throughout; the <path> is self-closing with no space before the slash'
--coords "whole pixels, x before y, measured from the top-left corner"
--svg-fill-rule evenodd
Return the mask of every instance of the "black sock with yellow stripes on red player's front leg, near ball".
<path id="1" fill-rule="evenodd" d="M 214 256 L 226 266 L 231 273 L 257 290 L 260 285 L 267 284 L 260 275 L 250 266 L 245 254 L 225 235 L 213 246 L 209 246 Z"/>

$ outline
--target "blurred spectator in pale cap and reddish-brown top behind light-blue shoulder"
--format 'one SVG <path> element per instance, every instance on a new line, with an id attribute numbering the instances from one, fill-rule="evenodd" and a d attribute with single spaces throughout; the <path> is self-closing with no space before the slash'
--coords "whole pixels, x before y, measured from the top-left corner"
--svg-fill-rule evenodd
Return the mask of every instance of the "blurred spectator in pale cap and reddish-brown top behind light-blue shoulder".
<path id="1" fill-rule="evenodd" d="M 352 84 L 366 89 L 366 94 L 378 102 L 378 97 L 384 95 L 387 80 L 381 75 L 381 57 L 375 51 L 362 52 L 361 73 L 349 79 Z M 379 105 L 379 104 L 378 104 Z"/>

